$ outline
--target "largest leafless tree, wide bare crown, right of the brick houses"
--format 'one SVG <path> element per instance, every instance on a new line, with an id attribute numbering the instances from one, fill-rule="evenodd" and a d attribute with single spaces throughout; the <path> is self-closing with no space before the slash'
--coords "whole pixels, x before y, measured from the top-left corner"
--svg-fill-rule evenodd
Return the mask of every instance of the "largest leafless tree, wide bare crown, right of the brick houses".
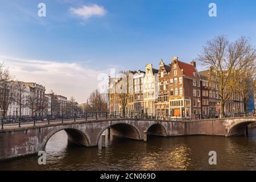
<path id="1" fill-rule="evenodd" d="M 225 35 L 221 35 L 206 43 L 203 53 L 197 60 L 205 67 L 213 68 L 216 76 L 214 80 L 218 82 L 217 86 L 220 90 L 221 117 L 223 117 L 225 103 L 237 88 L 236 78 L 239 71 L 255 64 L 255 49 L 245 37 L 229 42 Z"/>

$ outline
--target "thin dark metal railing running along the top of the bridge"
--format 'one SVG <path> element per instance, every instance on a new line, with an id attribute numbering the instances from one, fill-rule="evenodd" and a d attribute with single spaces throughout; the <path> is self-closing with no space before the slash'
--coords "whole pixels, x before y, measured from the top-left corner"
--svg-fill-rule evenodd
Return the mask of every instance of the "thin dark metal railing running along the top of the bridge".
<path id="1" fill-rule="evenodd" d="M 227 114 L 225 117 L 251 117 L 249 113 L 233 113 Z M 56 123 L 57 121 L 64 123 L 65 121 L 97 121 L 102 119 L 109 119 L 109 118 L 127 118 L 127 119 L 148 119 L 148 120 L 160 120 L 160 121 L 184 121 L 188 122 L 191 120 L 200 120 L 200 119 L 211 119 L 211 118 L 218 118 L 218 115 L 201 115 L 201 114 L 194 114 L 193 117 L 179 117 L 170 114 L 155 114 L 155 113 L 137 113 L 137 112 L 128 112 L 122 113 L 117 111 L 108 111 L 108 112 L 92 112 L 92 113 L 75 113 L 75 114 L 48 114 L 48 115 L 35 115 L 35 116 L 28 116 L 23 115 L 22 117 L 18 116 L 8 116 L 6 118 L 1 119 L 1 129 L 4 129 L 4 125 L 20 125 L 26 123 L 33 123 L 36 126 L 37 123 L 47 122 Z"/>

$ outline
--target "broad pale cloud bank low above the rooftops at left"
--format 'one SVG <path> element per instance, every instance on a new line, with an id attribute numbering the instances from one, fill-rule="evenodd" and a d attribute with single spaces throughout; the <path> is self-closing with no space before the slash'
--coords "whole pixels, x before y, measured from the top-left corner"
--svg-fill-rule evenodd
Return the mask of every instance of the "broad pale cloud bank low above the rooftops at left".
<path id="1" fill-rule="evenodd" d="M 37 82 L 46 86 L 47 92 L 53 90 L 68 99 L 74 96 L 79 103 L 86 102 L 89 94 L 102 85 L 99 75 L 108 79 L 109 69 L 94 70 L 77 63 L 60 63 L 57 61 L 26 60 L 0 56 L 9 67 L 14 80 Z"/>

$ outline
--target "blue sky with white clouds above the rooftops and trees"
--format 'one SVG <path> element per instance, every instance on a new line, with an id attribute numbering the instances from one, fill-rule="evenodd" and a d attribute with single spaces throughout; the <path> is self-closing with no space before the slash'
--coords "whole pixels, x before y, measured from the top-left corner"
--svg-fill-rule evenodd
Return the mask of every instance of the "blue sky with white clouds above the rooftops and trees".
<path id="1" fill-rule="evenodd" d="M 113 68 L 158 68 L 174 56 L 189 63 L 223 34 L 255 46 L 255 12 L 254 0 L 0 0 L 0 62 L 14 79 L 82 103 Z"/>

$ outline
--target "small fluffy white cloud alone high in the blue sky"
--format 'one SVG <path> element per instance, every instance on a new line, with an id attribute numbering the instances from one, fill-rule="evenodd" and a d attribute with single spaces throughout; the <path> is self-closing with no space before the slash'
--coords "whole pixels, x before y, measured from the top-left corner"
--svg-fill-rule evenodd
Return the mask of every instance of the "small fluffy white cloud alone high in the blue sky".
<path id="1" fill-rule="evenodd" d="M 95 4 L 88 6 L 84 5 L 78 9 L 72 7 L 70 11 L 72 14 L 81 16 L 84 19 L 90 18 L 91 16 L 104 16 L 107 12 L 103 6 L 98 6 Z"/>

